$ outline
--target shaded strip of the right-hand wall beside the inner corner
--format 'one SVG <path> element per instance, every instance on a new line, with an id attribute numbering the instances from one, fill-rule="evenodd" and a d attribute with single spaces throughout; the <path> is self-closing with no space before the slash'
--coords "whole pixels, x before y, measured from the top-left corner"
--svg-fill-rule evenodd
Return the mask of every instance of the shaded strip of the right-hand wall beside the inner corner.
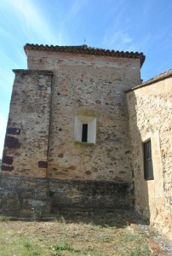
<path id="1" fill-rule="evenodd" d="M 132 207 L 135 207 L 135 211 L 139 213 L 144 221 L 146 221 L 146 224 L 150 224 L 151 213 L 148 183 L 152 181 L 146 181 L 144 177 L 144 171 L 148 172 L 148 170 L 144 170 L 144 142 L 146 142 L 149 137 L 146 137 L 145 140 L 141 136 L 137 125 L 140 117 L 137 112 L 138 104 L 135 97 L 135 91 L 129 91 L 129 93 L 127 93 L 127 98 L 129 110 L 129 139 L 131 143 L 131 203 Z"/>

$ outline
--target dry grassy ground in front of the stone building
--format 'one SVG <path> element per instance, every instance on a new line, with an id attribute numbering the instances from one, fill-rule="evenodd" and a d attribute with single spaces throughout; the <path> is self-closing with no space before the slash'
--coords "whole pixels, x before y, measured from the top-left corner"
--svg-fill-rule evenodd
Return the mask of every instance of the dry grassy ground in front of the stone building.
<path id="1" fill-rule="evenodd" d="M 53 222 L 0 219 L 0 256 L 151 255 L 146 237 L 117 212 L 68 212 Z"/>

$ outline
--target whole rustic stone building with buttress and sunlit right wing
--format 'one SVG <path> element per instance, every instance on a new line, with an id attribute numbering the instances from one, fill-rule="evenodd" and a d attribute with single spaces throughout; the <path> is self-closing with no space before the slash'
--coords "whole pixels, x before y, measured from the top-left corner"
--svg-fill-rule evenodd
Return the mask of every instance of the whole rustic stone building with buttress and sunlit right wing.
<path id="1" fill-rule="evenodd" d="M 25 52 L 27 70 L 14 70 L 1 211 L 135 206 L 158 223 L 171 211 L 172 72 L 141 84 L 142 53 L 37 44 Z M 143 147 L 152 152 L 145 177 Z"/>

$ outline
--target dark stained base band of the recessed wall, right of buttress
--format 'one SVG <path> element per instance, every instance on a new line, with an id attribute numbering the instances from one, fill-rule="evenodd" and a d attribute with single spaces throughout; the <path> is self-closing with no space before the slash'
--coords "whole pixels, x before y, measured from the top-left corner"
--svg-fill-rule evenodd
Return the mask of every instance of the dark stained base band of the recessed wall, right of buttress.
<path id="1" fill-rule="evenodd" d="M 57 185 L 58 184 L 58 185 Z M 49 179 L 52 212 L 129 209 L 129 183 Z"/>

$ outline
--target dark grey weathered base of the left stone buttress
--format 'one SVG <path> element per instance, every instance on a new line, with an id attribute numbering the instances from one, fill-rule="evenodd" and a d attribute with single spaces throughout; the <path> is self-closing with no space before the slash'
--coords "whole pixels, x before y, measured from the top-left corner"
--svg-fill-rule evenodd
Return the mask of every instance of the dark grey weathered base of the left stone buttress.
<path id="1" fill-rule="evenodd" d="M 49 216 L 52 201 L 47 178 L 0 173 L 0 213 L 14 217 Z"/>

